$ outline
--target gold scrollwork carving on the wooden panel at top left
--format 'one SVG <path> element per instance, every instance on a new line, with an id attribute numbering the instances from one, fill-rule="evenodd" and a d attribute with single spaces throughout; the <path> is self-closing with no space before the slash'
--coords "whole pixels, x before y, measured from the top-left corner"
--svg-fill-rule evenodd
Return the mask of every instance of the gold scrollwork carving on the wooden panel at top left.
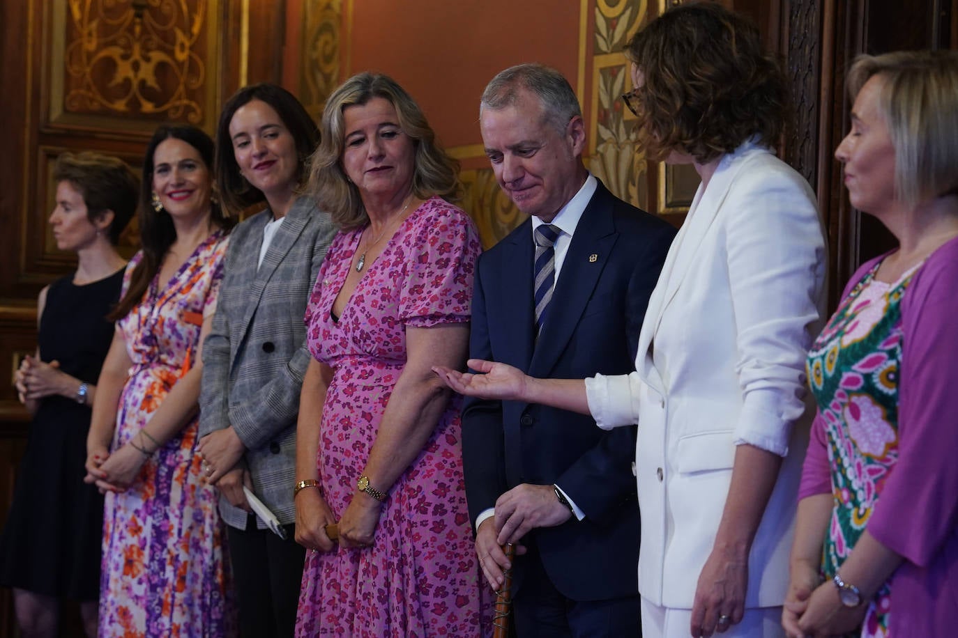
<path id="1" fill-rule="evenodd" d="M 185 121 L 212 130 L 218 82 L 206 67 L 217 60 L 216 4 L 55 0 L 51 121 L 144 132 Z"/>

